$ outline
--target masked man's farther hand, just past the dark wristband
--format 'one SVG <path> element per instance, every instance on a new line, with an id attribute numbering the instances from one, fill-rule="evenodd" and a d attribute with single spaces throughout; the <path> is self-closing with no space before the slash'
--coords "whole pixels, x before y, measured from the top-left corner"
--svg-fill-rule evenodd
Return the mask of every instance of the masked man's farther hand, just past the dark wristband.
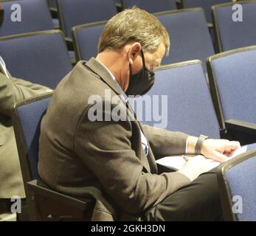
<path id="1" fill-rule="evenodd" d="M 201 154 L 217 162 L 224 162 L 230 154 L 241 147 L 237 141 L 226 139 L 206 139 L 201 146 Z"/>

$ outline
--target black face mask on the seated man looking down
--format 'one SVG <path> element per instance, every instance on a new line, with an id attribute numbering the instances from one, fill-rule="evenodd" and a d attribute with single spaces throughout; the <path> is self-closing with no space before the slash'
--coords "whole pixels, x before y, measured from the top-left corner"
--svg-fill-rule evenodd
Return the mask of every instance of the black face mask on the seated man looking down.
<path id="1" fill-rule="evenodd" d="M 130 67 L 130 82 L 128 85 L 128 89 L 125 91 L 126 95 L 143 95 L 147 93 L 153 86 L 155 82 L 155 73 L 150 72 L 145 66 L 145 59 L 142 52 L 142 70 L 136 74 L 133 74 Z"/>

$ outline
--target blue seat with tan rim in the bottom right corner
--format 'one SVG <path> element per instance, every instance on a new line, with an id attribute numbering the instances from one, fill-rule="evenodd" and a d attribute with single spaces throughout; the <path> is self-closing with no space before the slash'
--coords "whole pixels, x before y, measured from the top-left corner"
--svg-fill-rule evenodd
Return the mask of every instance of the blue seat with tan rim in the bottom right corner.
<path id="1" fill-rule="evenodd" d="M 256 149 L 218 167 L 218 186 L 225 221 L 256 221 L 255 170 Z"/>

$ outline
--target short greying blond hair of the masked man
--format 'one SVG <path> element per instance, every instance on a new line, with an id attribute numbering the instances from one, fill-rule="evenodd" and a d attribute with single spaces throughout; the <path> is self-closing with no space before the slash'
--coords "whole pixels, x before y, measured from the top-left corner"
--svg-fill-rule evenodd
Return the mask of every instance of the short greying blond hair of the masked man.
<path id="1" fill-rule="evenodd" d="M 170 49 L 167 30 L 155 15 L 134 7 L 114 15 L 103 30 L 98 44 L 98 52 L 106 49 L 120 49 L 128 42 L 136 41 L 144 52 L 155 52 L 159 45 L 165 45 L 165 53 Z"/>

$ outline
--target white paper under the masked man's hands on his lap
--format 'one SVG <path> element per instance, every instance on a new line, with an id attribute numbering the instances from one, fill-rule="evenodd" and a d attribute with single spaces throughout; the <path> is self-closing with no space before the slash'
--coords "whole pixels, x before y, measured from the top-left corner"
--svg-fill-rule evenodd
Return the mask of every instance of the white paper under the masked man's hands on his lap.
<path id="1" fill-rule="evenodd" d="M 245 153 L 247 150 L 247 145 L 235 150 L 231 156 L 229 156 L 227 160 L 234 158 L 235 156 L 238 156 L 242 153 Z M 186 155 L 187 156 L 187 155 Z M 218 167 L 221 162 L 213 161 L 212 159 L 205 158 L 205 162 L 207 162 L 207 170 L 212 170 L 215 167 Z M 184 166 L 186 161 L 184 160 L 183 156 L 165 156 L 162 159 L 159 159 L 156 161 L 158 164 L 162 164 L 165 167 L 169 167 L 173 170 L 180 170 L 181 167 Z"/>

